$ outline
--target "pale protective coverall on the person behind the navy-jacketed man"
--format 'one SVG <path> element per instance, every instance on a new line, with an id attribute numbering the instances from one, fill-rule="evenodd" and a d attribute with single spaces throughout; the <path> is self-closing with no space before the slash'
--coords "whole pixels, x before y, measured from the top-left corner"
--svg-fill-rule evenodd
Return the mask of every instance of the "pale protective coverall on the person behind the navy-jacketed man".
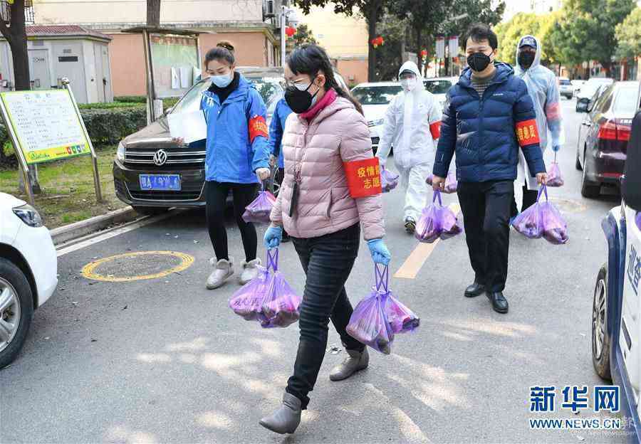
<path id="1" fill-rule="evenodd" d="M 525 38 L 534 38 L 536 40 L 536 56 L 527 70 L 523 70 L 521 65 L 518 64 L 518 47 L 521 46 L 521 42 Z M 541 65 L 541 41 L 534 36 L 523 36 L 516 45 L 516 60 L 514 73 L 528 85 L 528 93 L 530 93 L 532 102 L 534 102 L 536 126 L 538 137 L 541 140 L 542 154 L 545 154 L 548 146 L 548 130 L 551 134 L 550 148 L 562 147 L 563 143 L 566 142 L 566 133 L 563 129 L 563 119 L 561 118 L 561 95 L 558 93 L 556 75 Z M 538 189 L 536 176 L 532 177 L 527 165 L 523 152 L 519 151 L 516 186 L 521 189 L 521 186 L 526 182 L 527 176 L 528 189 L 536 190 Z"/>

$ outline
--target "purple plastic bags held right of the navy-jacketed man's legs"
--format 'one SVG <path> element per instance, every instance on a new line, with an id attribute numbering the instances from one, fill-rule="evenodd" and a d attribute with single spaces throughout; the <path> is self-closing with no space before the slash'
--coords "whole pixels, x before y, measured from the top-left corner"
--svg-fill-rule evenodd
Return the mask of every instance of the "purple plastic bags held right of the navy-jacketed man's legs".
<path id="1" fill-rule="evenodd" d="M 545 193 L 546 201 L 541 202 Z M 514 218 L 514 229 L 529 239 L 544 238 L 549 243 L 562 245 L 568 242 L 568 224 L 556 206 L 548 201 L 548 190 L 541 185 L 536 203 Z"/>

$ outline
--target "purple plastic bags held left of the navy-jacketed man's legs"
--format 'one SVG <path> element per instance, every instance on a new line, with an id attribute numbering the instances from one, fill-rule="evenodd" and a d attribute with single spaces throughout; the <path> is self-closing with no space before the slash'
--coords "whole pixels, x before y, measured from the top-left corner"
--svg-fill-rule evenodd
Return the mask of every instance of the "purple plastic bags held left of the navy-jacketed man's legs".
<path id="1" fill-rule="evenodd" d="M 436 203 L 436 199 L 439 202 Z M 432 243 L 438 238 L 442 240 L 457 236 L 463 230 L 457 216 L 447 207 L 443 206 L 441 192 L 434 191 L 432 203 L 423 208 L 423 212 L 416 224 L 415 238 L 425 243 Z"/>

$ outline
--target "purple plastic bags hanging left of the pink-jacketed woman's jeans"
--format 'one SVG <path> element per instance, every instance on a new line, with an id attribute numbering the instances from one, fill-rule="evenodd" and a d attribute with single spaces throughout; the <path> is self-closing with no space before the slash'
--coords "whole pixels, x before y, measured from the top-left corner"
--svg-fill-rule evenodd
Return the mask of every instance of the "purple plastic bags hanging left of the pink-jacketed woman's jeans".
<path id="1" fill-rule="evenodd" d="M 267 252 L 267 268 L 234 293 L 229 307 L 248 321 L 259 321 L 261 327 L 288 327 L 298 320 L 301 297 L 296 295 L 278 272 L 278 249 Z"/>

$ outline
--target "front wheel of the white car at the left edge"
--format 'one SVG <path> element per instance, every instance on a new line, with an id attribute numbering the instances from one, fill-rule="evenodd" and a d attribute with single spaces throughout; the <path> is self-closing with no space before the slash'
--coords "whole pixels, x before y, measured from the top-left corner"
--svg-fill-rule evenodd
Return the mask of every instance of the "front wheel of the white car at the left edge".
<path id="1" fill-rule="evenodd" d="M 31 325 L 33 294 L 14 263 L 0 258 L 0 369 L 18 356 Z"/>

